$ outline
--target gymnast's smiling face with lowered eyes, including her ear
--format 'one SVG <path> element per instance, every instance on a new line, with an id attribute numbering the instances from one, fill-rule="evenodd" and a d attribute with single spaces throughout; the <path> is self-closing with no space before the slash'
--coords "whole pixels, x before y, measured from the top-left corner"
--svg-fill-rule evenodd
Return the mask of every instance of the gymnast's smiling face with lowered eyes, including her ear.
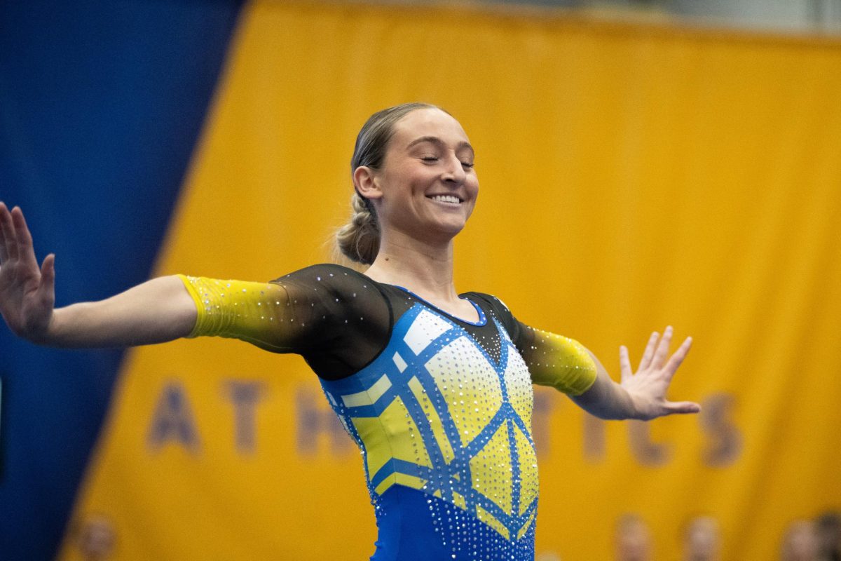
<path id="1" fill-rule="evenodd" d="M 479 179 L 473 148 L 456 119 L 436 108 L 412 111 L 394 124 L 383 164 L 354 174 L 373 201 L 383 235 L 449 241 L 466 224 Z"/>

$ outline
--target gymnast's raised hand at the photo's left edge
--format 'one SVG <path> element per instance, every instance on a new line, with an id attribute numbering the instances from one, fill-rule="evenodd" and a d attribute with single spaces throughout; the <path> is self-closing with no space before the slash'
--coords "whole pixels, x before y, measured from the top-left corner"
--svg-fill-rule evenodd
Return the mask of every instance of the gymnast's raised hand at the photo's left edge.
<path id="1" fill-rule="evenodd" d="M 0 202 L 0 315 L 15 335 L 41 342 L 56 304 L 56 256 L 38 267 L 32 235 L 19 207 Z"/>

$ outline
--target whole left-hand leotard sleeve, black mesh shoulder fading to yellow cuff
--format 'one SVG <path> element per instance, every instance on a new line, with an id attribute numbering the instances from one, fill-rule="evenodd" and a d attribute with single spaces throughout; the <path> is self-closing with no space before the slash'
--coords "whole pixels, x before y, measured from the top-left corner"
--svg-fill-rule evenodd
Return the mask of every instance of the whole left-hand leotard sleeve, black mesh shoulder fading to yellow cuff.
<path id="1" fill-rule="evenodd" d="M 198 312 L 189 336 L 293 352 L 321 378 L 357 372 L 389 339 L 387 300 L 376 283 L 346 267 L 313 265 L 270 283 L 179 277 Z"/>

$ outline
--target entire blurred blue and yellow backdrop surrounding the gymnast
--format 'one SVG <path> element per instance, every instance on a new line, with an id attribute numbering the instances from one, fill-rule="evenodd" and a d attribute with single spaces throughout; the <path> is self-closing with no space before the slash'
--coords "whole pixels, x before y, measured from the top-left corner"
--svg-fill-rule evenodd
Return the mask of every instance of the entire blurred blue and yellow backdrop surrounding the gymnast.
<path id="1" fill-rule="evenodd" d="M 447 108 L 458 288 L 700 415 L 536 390 L 539 561 L 838 559 L 841 2 L 0 3 L 0 200 L 57 303 L 331 260 L 374 111 Z M 0 331 L 0 558 L 362 559 L 362 462 L 298 357 Z"/>

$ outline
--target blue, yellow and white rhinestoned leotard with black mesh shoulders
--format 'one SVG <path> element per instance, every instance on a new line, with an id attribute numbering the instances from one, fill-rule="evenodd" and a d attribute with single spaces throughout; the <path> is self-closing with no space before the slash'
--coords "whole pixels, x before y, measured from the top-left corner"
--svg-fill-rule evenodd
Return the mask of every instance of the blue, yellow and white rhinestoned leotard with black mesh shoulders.
<path id="1" fill-rule="evenodd" d="M 488 294 L 479 321 L 338 265 L 271 283 L 182 277 L 191 336 L 299 353 L 364 458 L 375 561 L 532 559 L 537 457 L 532 384 L 580 394 L 578 342 L 521 324 Z"/>

